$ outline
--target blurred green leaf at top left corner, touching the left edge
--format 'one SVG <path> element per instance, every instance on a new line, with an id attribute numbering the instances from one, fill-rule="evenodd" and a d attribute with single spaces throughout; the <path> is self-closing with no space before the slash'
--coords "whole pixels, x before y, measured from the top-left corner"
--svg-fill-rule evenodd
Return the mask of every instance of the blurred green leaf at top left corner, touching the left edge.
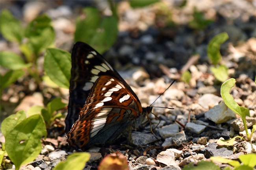
<path id="1" fill-rule="evenodd" d="M 23 28 L 19 20 L 6 9 L 1 12 L 0 16 L 1 34 L 9 41 L 21 42 L 23 37 Z"/>

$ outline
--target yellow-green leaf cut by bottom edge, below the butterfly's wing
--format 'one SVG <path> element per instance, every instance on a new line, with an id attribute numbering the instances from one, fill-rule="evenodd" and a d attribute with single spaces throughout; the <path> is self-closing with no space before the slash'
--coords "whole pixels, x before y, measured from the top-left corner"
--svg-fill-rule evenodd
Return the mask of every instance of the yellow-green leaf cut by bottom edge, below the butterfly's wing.
<path id="1" fill-rule="evenodd" d="M 85 152 L 78 152 L 67 157 L 66 161 L 60 162 L 54 170 L 82 170 L 85 164 L 90 159 L 90 154 Z"/>

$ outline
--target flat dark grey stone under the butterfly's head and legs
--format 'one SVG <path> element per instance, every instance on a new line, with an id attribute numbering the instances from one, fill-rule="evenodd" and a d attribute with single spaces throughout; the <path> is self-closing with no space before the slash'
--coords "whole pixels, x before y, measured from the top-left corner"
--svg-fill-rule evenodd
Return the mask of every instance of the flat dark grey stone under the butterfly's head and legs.
<path id="1" fill-rule="evenodd" d="M 131 133 L 131 143 L 135 145 L 146 145 L 156 140 L 156 137 L 151 133 L 141 133 L 141 132 L 132 132 Z"/>

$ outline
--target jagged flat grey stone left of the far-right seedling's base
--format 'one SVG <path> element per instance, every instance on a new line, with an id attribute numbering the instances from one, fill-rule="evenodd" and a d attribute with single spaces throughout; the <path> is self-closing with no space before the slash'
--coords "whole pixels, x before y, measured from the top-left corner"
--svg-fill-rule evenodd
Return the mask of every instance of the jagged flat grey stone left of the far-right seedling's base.
<path id="1" fill-rule="evenodd" d="M 209 143 L 208 146 L 206 146 L 205 148 L 201 149 L 202 152 L 205 152 L 205 157 L 208 159 L 211 156 L 229 156 L 233 154 L 232 150 L 228 150 L 225 147 L 222 148 L 217 148 L 217 144 L 216 143 Z"/>

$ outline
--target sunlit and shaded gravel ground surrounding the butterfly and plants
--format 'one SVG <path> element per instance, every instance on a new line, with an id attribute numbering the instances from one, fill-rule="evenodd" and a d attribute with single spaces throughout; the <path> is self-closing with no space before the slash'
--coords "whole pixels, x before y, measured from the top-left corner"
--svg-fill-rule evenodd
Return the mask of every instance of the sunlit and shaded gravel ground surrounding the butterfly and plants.
<path id="1" fill-rule="evenodd" d="M 105 14 L 110 11 L 105 1 L 0 3 L 1 10 L 9 9 L 24 23 L 46 12 L 53 20 L 56 47 L 67 51 L 74 43 L 75 18 L 84 6 L 96 6 Z M 163 167 L 166 170 L 180 169 L 195 160 L 208 160 L 210 156 L 237 159 L 240 154 L 256 152 L 255 132 L 252 144 L 237 140 L 237 144 L 232 147 L 217 146 L 220 137 L 229 139 L 244 129 L 238 115 L 223 103 L 220 96 L 221 82 L 211 73 L 212 65 L 207 56 L 207 45 L 211 38 L 222 32 L 228 33 L 229 39 L 221 46 L 221 62 L 228 67 L 229 77 L 236 79 L 236 87 L 230 93 L 240 106 L 249 108 L 247 126 L 251 127 L 256 123 L 256 1 L 188 1 L 183 8 L 178 7 L 178 1 L 163 3 L 171 11 L 172 25 L 165 22 L 167 18 L 161 15 L 162 8 L 157 5 L 133 9 L 128 2 L 120 2 L 119 35 L 114 46 L 103 56 L 132 87 L 143 107 L 149 106 L 176 79 L 173 86 L 153 105 L 172 107 L 174 110 L 153 109 L 160 119 L 155 130 L 160 140 L 154 138 L 149 123 L 146 123 L 137 132 L 132 132 L 129 145 L 121 137 L 111 146 L 90 148 L 87 152 L 91 158 L 86 170 L 96 169 L 102 156 L 115 151 L 124 154 L 129 161 L 129 168 L 136 170 Z M 189 27 L 193 7 L 215 22 L 202 30 Z M 19 51 L 18 44 L 7 43 L 2 36 L 0 48 Z M 43 68 L 43 57 L 39 58 L 39 66 Z M 191 72 L 189 84 L 180 80 L 185 70 Z M 6 70 L 1 68 L 1 74 L 4 72 Z M 1 121 L 13 110 L 43 106 L 60 94 L 68 101 L 68 90 L 54 90 L 45 84 L 42 86 L 43 91 L 38 91 L 30 77 L 19 79 L 9 86 L 1 99 Z M 63 114 L 67 114 L 67 110 L 63 110 Z M 153 127 L 159 122 L 155 115 L 149 115 Z M 55 122 L 48 130 L 48 137 L 42 139 L 41 154 L 22 169 L 51 170 L 73 152 L 66 142 L 63 127 L 64 119 Z M 4 142 L 2 135 L 0 142 Z M 3 162 L 1 168 L 13 168 L 8 157 L 4 157 Z"/>

